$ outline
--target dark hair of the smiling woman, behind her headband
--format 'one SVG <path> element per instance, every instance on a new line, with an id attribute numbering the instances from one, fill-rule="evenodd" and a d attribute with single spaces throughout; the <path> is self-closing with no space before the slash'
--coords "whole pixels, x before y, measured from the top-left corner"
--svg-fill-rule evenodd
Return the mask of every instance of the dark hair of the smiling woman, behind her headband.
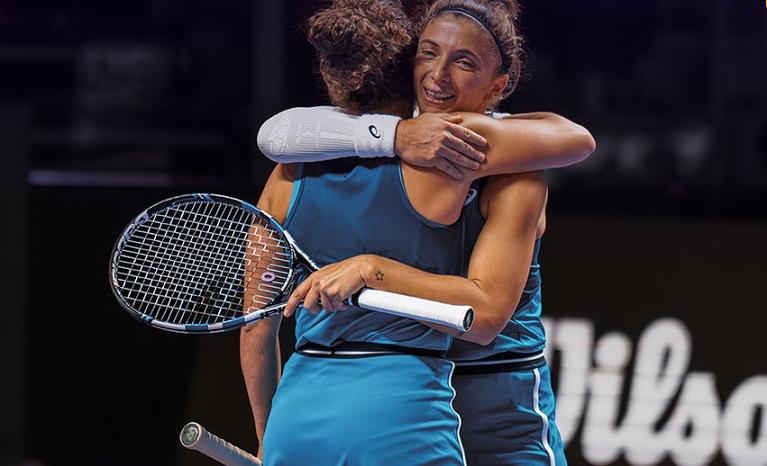
<path id="1" fill-rule="evenodd" d="M 436 0 L 429 6 L 418 30 L 423 32 L 429 22 L 442 14 L 463 11 L 473 16 L 488 29 L 501 53 L 499 73 L 509 75 L 509 84 L 501 93 L 505 99 L 516 89 L 522 74 L 522 34 L 517 23 L 519 16 L 517 0 Z"/>

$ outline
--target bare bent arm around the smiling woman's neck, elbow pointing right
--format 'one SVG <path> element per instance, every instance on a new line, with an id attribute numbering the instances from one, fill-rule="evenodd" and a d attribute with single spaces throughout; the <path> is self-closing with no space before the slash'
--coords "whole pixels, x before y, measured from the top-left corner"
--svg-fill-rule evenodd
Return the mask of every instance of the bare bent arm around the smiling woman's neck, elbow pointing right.
<path id="1" fill-rule="evenodd" d="M 596 149 L 596 142 L 586 128 L 554 113 L 506 118 L 460 115 L 464 126 L 488 141 L 483 176 L 560 168 L 584 160 Z"/>

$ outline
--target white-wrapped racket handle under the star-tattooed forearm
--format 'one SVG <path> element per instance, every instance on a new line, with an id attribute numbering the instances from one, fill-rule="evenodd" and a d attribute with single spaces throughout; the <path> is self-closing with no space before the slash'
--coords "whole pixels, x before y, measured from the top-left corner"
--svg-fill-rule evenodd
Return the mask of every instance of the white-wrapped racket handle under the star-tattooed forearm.
<path id="1" fill-rule="evenodd" d="M 370 288 L 354 294 L 349 303 L 372 311 L 446 325 L 460 332 L 468 332 L 474 323 L 471 306 L 439 303 Z"/>

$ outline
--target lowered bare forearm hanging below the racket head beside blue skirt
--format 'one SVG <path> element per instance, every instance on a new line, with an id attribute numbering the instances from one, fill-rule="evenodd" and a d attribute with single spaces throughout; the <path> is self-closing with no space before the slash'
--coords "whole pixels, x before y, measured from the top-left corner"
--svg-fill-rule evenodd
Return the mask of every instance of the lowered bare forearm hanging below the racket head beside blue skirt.
<path id="1" fill-rule="evenodd" d="M 279 319 L 255 322 L 240 331 L 240 367 L 259 442 L 280 380 Z"/>

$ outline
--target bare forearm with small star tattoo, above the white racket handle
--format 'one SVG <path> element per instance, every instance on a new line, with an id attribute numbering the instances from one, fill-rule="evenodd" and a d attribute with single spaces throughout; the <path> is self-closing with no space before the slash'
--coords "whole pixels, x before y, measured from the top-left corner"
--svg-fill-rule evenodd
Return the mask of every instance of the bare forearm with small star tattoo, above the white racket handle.
<path id="1" fill-rule="evenodd" d="M 368 288 L 471 306 L 475 318 L 471 330 L 466 333 L 458 334 L 443 326 L 424 324 L 473 343 L 492 342 L 506 325 L 510 310 L 516 307 L 521 296 L 521 286 L 493 287 L 465 277 L 432 274 L 381 256 L 366 255 L 364 260 L 368 267 L 364 268 L 363 278 Z"/>

